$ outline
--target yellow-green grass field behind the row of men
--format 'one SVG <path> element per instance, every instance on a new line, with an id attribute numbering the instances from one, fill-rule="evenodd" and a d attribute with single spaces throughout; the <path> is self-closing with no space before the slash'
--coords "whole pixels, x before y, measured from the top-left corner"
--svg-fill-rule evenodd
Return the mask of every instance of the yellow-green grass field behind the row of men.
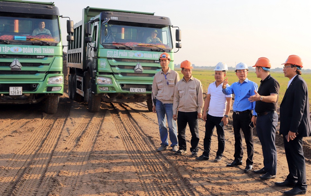
<path id="1" fill-rule="evenodd" d="M 180 68 L 177 68 L 177 69 L 175 68 L 175 71 L 177 71 L 179 73 L 180 78 L 183 78 L 183 74 L 181 74 L 180 70 L 181 70 Z M 193 69 L 192 75 L 193 75 L 193 77 L 195 77 L 201 81 L 203 92 L 207 92 L 208 85 L 215 81 L 214 73 L 215 73 L 214 70 Z M 278 104 L 280 105 L 281 101 L 283 99 L 283 96 L 285 94 L 289 79 L 287 77 L 284 77 L 284 74 L 281 72 L 271 72 L 270 74 L 280 84 L 280 93 L 279 93 L 279 100 L 278 100 Z M 238 81 L 238 78 L 235 75 L 235 72 L 232 70 L 227 71 L 226 77 L 228 77 L 229 84 L 232 84 L 232 83 Z M 302 73 L 301 77 L 306 81 L 308 87 L 311 86 L 311 74 Z M 258 87 L 259 87 L 261 79 L 257 78 L 257 76 L 255 74 L 255 70 L 249 70 L 247 78 L 253 82 L 256 82 L 258 84 Z M 311 93 L 310 93 L 311 89 L 308 89 L 308 90 L 309 90 L 309 92 L 308 92 L 309 93 L 309 103 L 311 103 Z"/>

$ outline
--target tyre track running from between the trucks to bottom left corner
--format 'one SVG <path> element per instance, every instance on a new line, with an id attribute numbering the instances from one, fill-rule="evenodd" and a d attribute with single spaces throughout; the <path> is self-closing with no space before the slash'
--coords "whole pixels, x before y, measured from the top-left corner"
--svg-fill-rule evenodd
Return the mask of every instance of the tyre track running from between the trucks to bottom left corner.
<path id="1" fill-rule="evenodd" d="M 63 130 L 72 101 L 60 99 L 57 115 L 45 115 L 41 126 L 0 171 L 0 182 L 7 187 L 0 195 L 35 195 Z"/>

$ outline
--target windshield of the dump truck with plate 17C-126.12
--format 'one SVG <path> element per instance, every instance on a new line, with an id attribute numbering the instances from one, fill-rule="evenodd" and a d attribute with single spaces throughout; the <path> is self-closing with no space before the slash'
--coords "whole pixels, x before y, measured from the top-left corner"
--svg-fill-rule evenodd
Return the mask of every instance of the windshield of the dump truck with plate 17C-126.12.
<path id="1" fill-rule="evenodd" d="M 101 26 L 100 43 L 104 48 L 123 45 L 128 50 L 172 50 L 172 36 L 167 25 L 112 21 Z"/>

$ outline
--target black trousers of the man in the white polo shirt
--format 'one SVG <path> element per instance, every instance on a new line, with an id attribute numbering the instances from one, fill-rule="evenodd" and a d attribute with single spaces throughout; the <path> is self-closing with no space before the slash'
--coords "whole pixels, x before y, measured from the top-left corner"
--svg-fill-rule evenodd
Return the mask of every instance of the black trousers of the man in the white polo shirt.
<path id="1" fill-rule="evenodd" d="M 209 157 L 211 151 L 211 141 L 214 128 L 216 127 L 218 137 L 218 150 L 216 155 L 222 157 L 222 153 L 225 150 L 225 127 L 221 127 L 219 123 L 223 117 L 215 117 L 207 114 L 207 120 L 205 122 L 205 136 L 204 136 L 204 152 L 203 155 Z"/>

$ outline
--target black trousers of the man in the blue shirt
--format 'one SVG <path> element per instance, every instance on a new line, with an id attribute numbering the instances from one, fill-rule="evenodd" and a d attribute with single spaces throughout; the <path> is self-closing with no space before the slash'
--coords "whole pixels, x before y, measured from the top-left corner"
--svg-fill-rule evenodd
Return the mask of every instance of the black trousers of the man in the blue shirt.
<path id="1" fill-rule="evenodd" d="M 233 112 L 233 132 L 234 132 L 234 160 L 241 161 L 243 158 L 243 148 L 242 148 L 242 132 L 244 134 L 246 149 L 247 149 L 247 159 L 246 165 L 253 165 L 253 155 L 254 155 L 254 142 L 253 142 L 253 128 L 249 127 L 252 122 L 252 112 L 245 112 L 241 114 L 236 114 Z M 242 130 L 242 131 L 241 131 Z"/>

